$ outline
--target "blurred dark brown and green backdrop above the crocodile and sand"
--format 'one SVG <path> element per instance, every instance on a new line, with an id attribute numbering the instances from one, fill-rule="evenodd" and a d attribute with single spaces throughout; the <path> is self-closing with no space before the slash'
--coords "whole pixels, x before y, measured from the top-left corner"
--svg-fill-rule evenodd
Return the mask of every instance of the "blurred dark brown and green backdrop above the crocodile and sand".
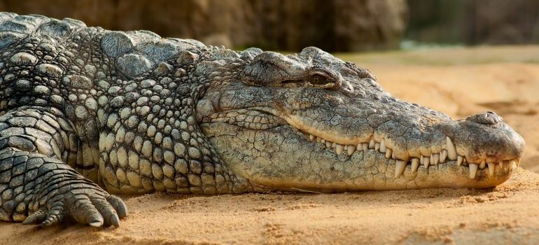
<path id="1" fill-rule="evenodd" d="M 0 0 L 0 10 L 211 45 L 330 52 L 539 41 L 536 0 Z"/>

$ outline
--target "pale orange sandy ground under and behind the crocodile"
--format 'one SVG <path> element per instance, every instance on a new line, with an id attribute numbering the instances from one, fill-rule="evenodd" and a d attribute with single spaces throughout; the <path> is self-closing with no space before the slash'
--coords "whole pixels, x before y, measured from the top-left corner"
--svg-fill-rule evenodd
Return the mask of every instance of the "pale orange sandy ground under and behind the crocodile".
<path id="1" fill-rule="evenodd" d="M 0 223 L 0 244 L 538 244 L 539 46 L 339 55 L 395 97 L 463 118 L 495 111 L 526 140 L 488 190 L 124 197 L 120 228 Z"/>

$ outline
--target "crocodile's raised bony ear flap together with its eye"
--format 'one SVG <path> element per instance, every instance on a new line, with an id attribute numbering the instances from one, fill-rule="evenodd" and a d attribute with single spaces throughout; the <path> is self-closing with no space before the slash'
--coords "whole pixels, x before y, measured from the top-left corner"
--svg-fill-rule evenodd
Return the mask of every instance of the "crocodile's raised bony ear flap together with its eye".
<path id="1" fill-rule="evenodd" d="M 338 73 L 311 67 L 278 52 L 262 52 L 241 72 L 241 80 L 253 86 L 329 88 L 341 84 Z"/>

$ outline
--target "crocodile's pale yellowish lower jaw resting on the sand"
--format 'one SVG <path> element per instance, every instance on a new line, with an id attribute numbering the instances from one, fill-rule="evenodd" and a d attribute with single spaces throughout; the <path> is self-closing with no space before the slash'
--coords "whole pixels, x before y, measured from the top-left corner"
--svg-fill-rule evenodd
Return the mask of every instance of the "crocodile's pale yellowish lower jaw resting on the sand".
<path id="1" fill-rule="evenodd" d="M 273 147 L 254 151 L 245 140 L 253 130 L 228 124 L 202 127 L 229 169 L 259 186 L 274 190 L 312 190 L 324 193 L 354 190 L 406 190 L 420 188 L 491 188 L 510 178 L 517 165 L 496 165 L 477 169 L 470 179 L 468 167 L 456 161 L 419 166 L 414 172 L 407 165 L 395 178 L 395 160 L 378 151 L 357 151 L 348 156 L 304 141 L 302 133 L 290 127 L 256 132 L 263 145 Z M 219 135 L 219 132 L 234 134 Z M 236 138 L 236 139 L 235 139 Z M 240 140 L 241 139 L 241 140 Z M 302 146 L 298 148 L 297 146 Z M 275 148 L 279 147 L 279 148 Z M 292 149 L 292 150 L 290 150 Z M 254 154 L 255 152 L 256 154 Z"/>

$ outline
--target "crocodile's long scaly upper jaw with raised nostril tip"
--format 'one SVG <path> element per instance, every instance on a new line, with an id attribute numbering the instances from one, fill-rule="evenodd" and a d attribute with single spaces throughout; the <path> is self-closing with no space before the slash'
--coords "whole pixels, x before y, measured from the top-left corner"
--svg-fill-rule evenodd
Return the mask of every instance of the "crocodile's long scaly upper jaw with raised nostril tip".
<path id="1" fill-rule="evenodd" d="M 281 106 L 277 116 L 311 140 L 335 148 L 337 153 L 351 155 L 354 151 L 374 149 L 388 159 L 408 165 L 419 162 L 428 166 L 454 160 L 458 166 L 483 169 L 501 166 L 503 162 L 518 165 L 524 153 L 522 137 L 495 113 L 452 120 L 443 113 L 385 96 L 377 106 L 365 109 L 371 100 L 337 99 L 331 110 L 320 111 L 312 105 L 303 108 L 304 103 L 288 97 L 289 103 Z M 341 110 L 343 106 L 348 109 Z M 369 113 L 377 115 L 358 117 Z M 472 179 L 473 172 L 470 169 Z"/>

